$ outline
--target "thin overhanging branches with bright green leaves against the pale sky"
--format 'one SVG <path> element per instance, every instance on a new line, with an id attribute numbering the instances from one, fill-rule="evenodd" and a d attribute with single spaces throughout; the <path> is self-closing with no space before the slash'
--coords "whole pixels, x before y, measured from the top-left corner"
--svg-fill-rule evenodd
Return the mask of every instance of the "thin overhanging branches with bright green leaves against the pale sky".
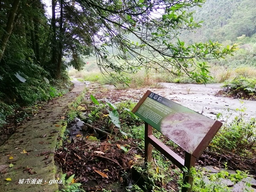
<path id="1" fill-rule="evenodd" d="M 200 27 L 193 12 L 204 0 L 93 1 L 78 0 L 84 13 L 99 26 L 88 34 L 96 52 L 97 64 L 109 75 L 135 73 L 141 66 L 188 75 L 206 82 L 205 61 L 232 54 L 236 45 L 222 47 L 218 42 L 186 45 L 177 38 L 183 30 Z M 78 18 L 79 16 L 76 15 Z M 85 32 L 90 28 L 83 23 Z M 132 41 L 131 41 L 132 39 Z M 195 70 L 200 68 L 201 70 Z"/>

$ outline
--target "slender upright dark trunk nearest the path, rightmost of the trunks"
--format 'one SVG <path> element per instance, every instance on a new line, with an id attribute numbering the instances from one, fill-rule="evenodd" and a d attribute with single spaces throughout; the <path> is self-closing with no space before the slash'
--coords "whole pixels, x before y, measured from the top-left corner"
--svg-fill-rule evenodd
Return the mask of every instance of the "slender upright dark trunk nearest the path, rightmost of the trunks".
<path id="1" fill-rule="evenodd" d="M 61 77 L 61 61 L 62 61 L 62 47 L 63 47 L 63 0 L 60 0 L 61 17 L 60 17 L 60 34 L 59 34 L 59 54 L 57 66 L 57 78 Z"/>

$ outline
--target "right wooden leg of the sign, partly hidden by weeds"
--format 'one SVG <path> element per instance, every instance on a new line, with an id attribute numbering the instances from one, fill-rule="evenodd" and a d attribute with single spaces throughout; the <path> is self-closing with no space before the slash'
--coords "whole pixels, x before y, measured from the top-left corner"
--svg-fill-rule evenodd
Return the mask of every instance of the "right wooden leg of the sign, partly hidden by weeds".
<path id="1" fill-rule="evenodd" d="M 190 172 L 191 167 L 195 167 L 195 157 L 193 157 L 188 152 L 186 152 L 186 154 L 185 154 L 184 166 L 188 169 L 188 173 Z M 192 184 L 193 184 L 193 177 L 190 177 L 189 175 L 186 175 L 185 172 L 183 172 L 183 183 L 189 183 L 190 188 L 183 187 L 181 192 L 191 192 Z"/>

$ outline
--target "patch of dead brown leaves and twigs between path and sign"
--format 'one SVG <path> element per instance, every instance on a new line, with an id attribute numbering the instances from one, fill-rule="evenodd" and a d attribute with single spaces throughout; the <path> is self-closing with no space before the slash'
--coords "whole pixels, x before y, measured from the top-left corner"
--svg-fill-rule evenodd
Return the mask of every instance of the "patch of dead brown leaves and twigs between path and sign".
<path id="1" fill-rule="evenodd" d="M 95 181 L 104 188 L 107 183 L 119 181 L 123 172 L 130 172 L 132 165 L 139 162 L 137 157 L 142 157 L 143 154 L 137 148 L 138 142 L 128 139 L 116 143 L 106 140 L 79 140 L 71 144 L 66 143 L 62 149 L 56 151 L 55 162 L 67 176 L 75 174 L 81 183 Z M 125 152 L 118 146 L 129 146 L 134 150 Z"/>

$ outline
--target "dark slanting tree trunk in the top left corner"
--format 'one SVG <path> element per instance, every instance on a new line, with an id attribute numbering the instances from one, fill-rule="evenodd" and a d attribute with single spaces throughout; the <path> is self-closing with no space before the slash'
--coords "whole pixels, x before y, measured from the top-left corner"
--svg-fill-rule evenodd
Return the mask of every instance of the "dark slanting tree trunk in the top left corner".
<path id="1" fill-rule="evenodd" d="M 1 43 L 1 47 L 0 47 L 0 62 L 3 58 L 3 54 L 4 54 L 4 51 L 6 49 L 9 37 L 12 33 L 12 29 L 13 29 L 13 26 L 14 26 L 14 19 L 15 19 L 15 15 L 16 15 L 19 4 L 20 4 L 20 0 L 14 0 L 14 2 L 12 4 L 12 9 L 9 13 L 7 26 L 6 26 L 6 31 L 3 34 L 2 43 Z"/>

